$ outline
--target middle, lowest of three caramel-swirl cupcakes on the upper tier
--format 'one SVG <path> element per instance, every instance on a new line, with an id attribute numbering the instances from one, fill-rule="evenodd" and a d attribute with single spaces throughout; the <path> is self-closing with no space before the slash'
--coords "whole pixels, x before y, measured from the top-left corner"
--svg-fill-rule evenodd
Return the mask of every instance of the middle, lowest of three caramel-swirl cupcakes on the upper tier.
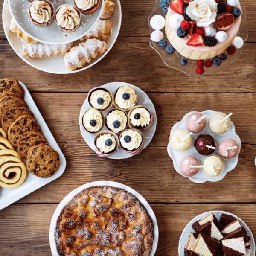
<path id="1" fill-rule="evenodd" d="M 74 6 L 63 4 L 56 11 L 55 21 L 61 31 L 75 32 L 81 24 L 81 13 Z"/>

